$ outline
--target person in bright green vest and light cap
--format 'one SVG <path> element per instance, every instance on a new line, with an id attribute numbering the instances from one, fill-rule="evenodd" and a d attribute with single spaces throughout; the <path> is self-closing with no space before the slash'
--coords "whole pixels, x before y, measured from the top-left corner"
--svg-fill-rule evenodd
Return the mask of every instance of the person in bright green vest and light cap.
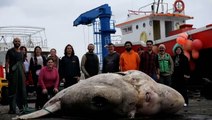
<path id="1" fill-rule="evenodd" d="M 169 53 L 166 53 L 166 46 L 160 44 L 158 53 L 160 79 L 159 82 L 171 86 L 171 75 L 174 71 L 174 63 Z"/>

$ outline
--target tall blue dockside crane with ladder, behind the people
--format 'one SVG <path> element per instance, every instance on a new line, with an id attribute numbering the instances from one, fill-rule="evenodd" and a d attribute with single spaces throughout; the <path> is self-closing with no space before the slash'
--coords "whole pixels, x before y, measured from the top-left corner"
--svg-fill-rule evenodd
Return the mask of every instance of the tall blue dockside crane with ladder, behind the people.
<path id="1" fill-rule="evenodd" d="M 88 25 L 93 24 L 94 35 L 100 36 L 95 37 L 98 40 L 96 42 L 96 48 L 101 48 L 100 53 L 100 63 L 102 63 L 102 58 L 107 54 L 107 49 L 105 46 L 111 42 L 110 34 L 115 34 L 115 25 L 114 22 L 111 24 L 112 11 L 108 4 L 101 5 L 97 8 L 89 10 L 85 13 L 82 13 L 73 23 L 74 26 L 78 25 Z M 96 23 L 96 19 L 99 19 L 100 26 Z M 112 28 L 112 29 L 111 29 Z M 95 42 L 94 42 L 95 43 Z"/>

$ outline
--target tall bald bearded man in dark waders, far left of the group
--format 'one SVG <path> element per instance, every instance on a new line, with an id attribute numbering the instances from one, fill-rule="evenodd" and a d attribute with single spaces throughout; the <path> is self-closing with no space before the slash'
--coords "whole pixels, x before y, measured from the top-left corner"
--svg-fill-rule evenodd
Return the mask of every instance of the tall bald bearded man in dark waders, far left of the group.
<path id="1" fill-rule="evenodd" d="M 24 75 L 24 54 L 20 51 L 21 40 L 14 38 L 14 47 L 9 49 L 6 54 L 5 71 L 8 80 L 9 94 L 9 114 L 16 114 L 16 105 L 19 114 L 23 114 L 27 107 L 25 75 Z"/>

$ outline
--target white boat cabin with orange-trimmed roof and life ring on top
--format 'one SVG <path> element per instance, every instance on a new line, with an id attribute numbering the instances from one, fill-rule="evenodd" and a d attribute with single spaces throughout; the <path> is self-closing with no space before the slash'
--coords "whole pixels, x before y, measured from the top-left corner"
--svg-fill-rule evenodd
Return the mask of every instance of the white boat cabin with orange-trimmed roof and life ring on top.
<path id="1" fill-rule="evenodd" d="M 151 10 L 143 10 L 147 7 Z M 182 29 L 194 29 L 192 25 L 186 24 L 186 20 L 193 19 L 193 17 L 185 15 L 184 8 L 183 1 L 177 0 L 171 9 L 168 3 L 153 2 L 137 11 L 128 10 L 127 20 L 116 25 L 122 34 L 121 41 L 115 42 L 117 51 L 124 50 L 121 46 L 126 41 L 131 41 L 134 49 L 137 50 L 139 46 L 145 47 L 147 40 L 153 40 L 154 44 L 158 45 L 176 39 L 179 29 L 181 29 L 180 32 Z M 167 45 L 172 47 L 175 43 L 173 41 L 172 44 Z M 171 52 L 171 49 L 168 52 Z"/>

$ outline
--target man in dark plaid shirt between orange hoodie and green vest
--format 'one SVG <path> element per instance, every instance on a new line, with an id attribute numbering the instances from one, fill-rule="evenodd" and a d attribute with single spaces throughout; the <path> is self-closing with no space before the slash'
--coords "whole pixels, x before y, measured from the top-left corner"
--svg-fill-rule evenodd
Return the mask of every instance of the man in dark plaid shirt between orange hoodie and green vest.
<path id="1" fill-rule="evenodd" d="M 158 63 L 158 56 L 153 51 L 153 41 L 146 41 L 147 50 L 141 55 L 141 62 L 139 70 L 149 75 L 155 81 L 160 78 L 160 69 Z"/>

